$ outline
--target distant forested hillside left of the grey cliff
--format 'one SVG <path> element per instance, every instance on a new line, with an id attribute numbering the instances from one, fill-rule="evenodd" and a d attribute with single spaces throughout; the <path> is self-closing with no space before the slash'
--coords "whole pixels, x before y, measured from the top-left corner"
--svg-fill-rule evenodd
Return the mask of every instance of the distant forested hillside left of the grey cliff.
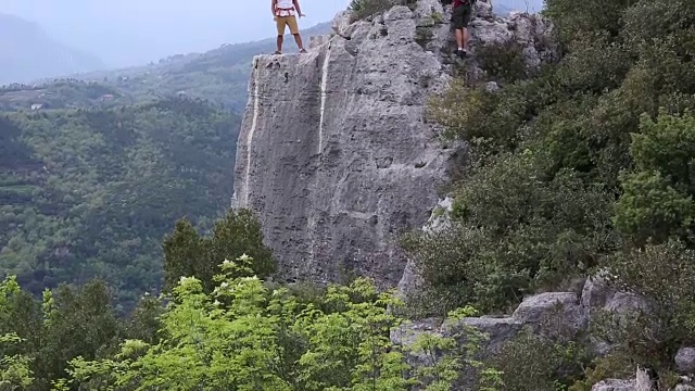
<path id="1" fill-rule="evenodd" d="M 131 306 L 175 222 L 228 207 L 238 127 L 181 99 L 0 116 L 0 270 L 36 294 L 101 276 Z"/>

